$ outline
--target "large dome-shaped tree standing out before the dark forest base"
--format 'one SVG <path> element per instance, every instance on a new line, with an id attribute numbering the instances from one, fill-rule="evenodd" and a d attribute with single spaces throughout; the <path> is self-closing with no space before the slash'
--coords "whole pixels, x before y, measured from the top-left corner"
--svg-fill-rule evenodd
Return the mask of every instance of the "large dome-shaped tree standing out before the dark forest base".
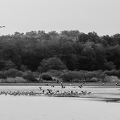
<path id="1" fill-rule="evenodd" d="M 43 59 L 40 63 L 40 67 L 38 67 L 38 70 L 41 72 L 46 72 L 48 70 L 64 70 L 66 69 L 66 65 L 56 57 L 52 57 L 49 59 Z"/>

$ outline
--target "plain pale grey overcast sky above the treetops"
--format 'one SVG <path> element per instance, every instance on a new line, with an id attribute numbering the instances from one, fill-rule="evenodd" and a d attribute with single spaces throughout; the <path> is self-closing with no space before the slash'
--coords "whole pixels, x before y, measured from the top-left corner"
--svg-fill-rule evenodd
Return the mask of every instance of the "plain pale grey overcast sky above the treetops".
<path id="1" fill-rule="evenodd" d="M 0 0 L 0 35 L 79 30 L 120 33 L 120 0 Z"/>

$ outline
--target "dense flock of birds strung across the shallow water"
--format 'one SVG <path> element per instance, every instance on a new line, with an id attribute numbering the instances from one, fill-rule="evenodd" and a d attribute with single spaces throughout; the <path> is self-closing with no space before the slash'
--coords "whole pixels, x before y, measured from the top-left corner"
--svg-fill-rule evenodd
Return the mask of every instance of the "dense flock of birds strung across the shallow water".
<path id="1" fill-rule="evenodd" d="M 49 84 L 46 84 L 46 86 L 49 86 Z M 70 85 L 71 86 L 71 85 Z M 50 86 L 55 87 L 54 85 Z M 66 86 L 63 86 L 61 83 L 61 88 L 65 88 Z M 79 88 L 83 87 L 83 84 L 78 86 Z M 49 87 L 48 87 L 49 88 Z M 74 90 L 53 90 L 53 89 L 43 89 L 43 87 L 39 87 L 38 91 L 0 91 L 0 95 L 12 95 L 12 96 L 50 96 L 50 97 L 80 97 L 81 95 L 89 95 L 91 92 L 87 91 L 74 91 Z"/>

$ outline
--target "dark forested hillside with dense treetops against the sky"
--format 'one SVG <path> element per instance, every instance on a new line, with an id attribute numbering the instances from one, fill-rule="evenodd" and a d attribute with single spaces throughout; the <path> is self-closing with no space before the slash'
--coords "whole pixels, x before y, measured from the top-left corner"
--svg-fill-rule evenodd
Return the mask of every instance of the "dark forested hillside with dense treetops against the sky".
<path id="1" fill-rule="evenodd" d="M 72 71 L 119 70 L 120 34 L 98 36 L 95 32 L 71 30 L 0 36 L 0 71 L 39 71 L 52 58 L 58 60 L 61 69 Z"/>

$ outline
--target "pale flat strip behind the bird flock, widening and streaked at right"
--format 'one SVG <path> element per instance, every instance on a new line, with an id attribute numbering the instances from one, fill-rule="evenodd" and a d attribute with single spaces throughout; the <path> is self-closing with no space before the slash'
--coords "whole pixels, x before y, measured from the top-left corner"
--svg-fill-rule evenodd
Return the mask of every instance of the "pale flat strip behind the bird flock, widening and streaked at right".
<path id="1" fill-rule="evenodd" d="M 105 100 L 105 101 L 120 101 L 120 88 L 119 86 L 41 86 L 43 90 L 52 89 L 53 91 L 87 91 L 91 92 L 89 95 L 81 95 L 80 98 L 89 98 L 90 100 Z M 39 86 L 0 86 L 0 91 L 36 91 L 39 92 Z"/>

